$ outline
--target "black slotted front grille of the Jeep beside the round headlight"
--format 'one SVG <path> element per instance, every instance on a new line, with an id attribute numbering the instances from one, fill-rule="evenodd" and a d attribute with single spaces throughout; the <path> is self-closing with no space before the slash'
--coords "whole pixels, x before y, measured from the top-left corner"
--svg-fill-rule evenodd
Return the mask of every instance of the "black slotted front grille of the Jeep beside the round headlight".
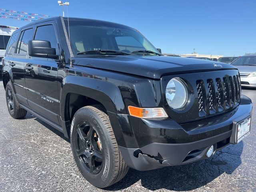
<path id="1" fill-rule="evenodd" d="M 196 81 L 199 116 L 228 110 L 240 102 L 240 79 L 238 75 Z"/>

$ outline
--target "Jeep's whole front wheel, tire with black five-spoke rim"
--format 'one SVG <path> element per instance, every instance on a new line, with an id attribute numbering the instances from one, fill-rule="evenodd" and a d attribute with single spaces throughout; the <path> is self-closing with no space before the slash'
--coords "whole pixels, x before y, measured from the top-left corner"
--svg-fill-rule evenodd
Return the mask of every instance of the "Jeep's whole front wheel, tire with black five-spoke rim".
<path id="1" fill-rule="evenodd" d="M 127 174 L 108 115 L 100 106 L 85 106 L 74 114 L 70 143 L 78 169 L 92 185 L 106 188 Z"/>

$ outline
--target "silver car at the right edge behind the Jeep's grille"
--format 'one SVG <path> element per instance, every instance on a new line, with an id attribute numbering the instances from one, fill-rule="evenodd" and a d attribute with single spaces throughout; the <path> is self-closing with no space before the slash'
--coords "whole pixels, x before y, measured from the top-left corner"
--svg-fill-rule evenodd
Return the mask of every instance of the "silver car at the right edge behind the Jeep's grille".
<path id="1" fill-rule="evenodd" d="M 231 64 L 238 68 L 242 86 L 256 87 L 256 54 L 241 56 Z"/>

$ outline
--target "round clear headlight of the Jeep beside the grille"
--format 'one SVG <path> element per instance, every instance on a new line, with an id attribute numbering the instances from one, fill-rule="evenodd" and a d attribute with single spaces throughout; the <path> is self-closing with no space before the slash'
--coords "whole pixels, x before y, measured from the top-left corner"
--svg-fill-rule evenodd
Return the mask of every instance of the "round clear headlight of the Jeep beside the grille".
<path id="1" fill-rule="evenodd" d="M 178 77 L 172 78 L 165 90 L 168 105 L 173 109 L 182 109 L 188 102 L 186 83 Z"/>

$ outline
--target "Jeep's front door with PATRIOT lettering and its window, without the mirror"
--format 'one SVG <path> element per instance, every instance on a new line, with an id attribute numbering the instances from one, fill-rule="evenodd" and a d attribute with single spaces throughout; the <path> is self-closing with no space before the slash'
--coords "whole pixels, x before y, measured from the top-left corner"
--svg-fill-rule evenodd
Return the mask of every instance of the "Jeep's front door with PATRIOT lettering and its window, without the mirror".
<path id="1" fill-rule="evenodd" d="M 35 26 L 33 40 L 49 41 L 59 55 L 57 30 L 54 22 Z M 25 62 L 28 104 L 32 110 L 60 125 L 60 102 L 57 82 L 58 61 L 51 58 L 30 57 Z"/>

